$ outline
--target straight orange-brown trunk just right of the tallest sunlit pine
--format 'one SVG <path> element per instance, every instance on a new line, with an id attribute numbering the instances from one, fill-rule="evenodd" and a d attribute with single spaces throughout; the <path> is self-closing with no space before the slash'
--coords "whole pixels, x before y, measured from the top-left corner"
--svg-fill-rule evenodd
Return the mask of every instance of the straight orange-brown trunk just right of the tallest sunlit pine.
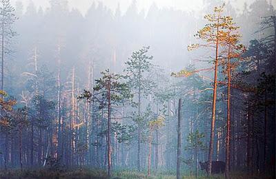
<path id="1" fill-rule="evenodd" d="M 227 130 L 226 130 L 226 165 L 225 165 L 225 178 L 229 178 L 229 165 L 230 165 L 230 90 L 231 90 L 231 63 L 230 63 L 230 42 L 228 45 L 228 65 L 227 65 L 227 77 L 228 77 L 228 85 L 227 85 Z"/>

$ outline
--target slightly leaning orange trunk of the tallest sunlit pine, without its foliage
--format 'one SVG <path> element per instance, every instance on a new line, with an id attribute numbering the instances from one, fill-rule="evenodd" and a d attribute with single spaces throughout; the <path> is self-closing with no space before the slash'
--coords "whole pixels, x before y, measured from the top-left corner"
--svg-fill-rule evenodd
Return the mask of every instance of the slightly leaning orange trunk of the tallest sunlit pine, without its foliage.
<path id="1" fill-rule="evenodd" d="M 215 130 L 215 111 L 216 111 L 216 102 L 217 102 L 217 68 L 218 68 L 218 55 L 219 55 L 219 19 L 220 19 L 220 13 L 217 18 L 213 110 L 212 110 L 212 122 L 211 122 L 211 129 L 210 129 L 210 143 L 209 143 L 209 151 L 208 151 L 208 169 L 207 169 L 208 176 L 210 176 L 212 171 L 213 143 L 214 143 L 214 133 L 215 133 L 214 130 Z"/>

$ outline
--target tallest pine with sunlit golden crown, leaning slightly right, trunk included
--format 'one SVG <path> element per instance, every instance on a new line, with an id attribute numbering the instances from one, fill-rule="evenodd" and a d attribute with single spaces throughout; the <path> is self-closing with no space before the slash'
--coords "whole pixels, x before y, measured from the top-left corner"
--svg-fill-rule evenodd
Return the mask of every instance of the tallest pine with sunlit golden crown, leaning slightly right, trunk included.
<path id="1" fill-rule="evenodd" d="M 216 102 L 217 102 L 217 74 L 218 67 L 221 62 L 221 55 L 223 52 L 219 52 L 219 48 L 224 47 L 226 40 L 228 39 L 227 28 L 233 25 L 231 17 L 223 15 L 224 5 L 215 7 L 214 14 L 207 14 L 204 19 L 209 21 L 204 28 L 199 30 L 195 36 L 198 39 L 205 41 L 201 44 L 193 44 L 188 46 L 188 50 L 194 50 L 197 48 L 212 48 L 215 49 L 215 56 L 213 62 L 214 67 L 214 87 L 213 87 L 213 109 L 212 109 L 212 122 L 210 127 L 210 143 L 208 151 L 208 176 L 210 176 L 212 169 L 212 158 L 213 158 L 213 141 L 215 135 L 215 116 L 216 116 Z M 233 34 L 233 36 L 235 36 Z"/>

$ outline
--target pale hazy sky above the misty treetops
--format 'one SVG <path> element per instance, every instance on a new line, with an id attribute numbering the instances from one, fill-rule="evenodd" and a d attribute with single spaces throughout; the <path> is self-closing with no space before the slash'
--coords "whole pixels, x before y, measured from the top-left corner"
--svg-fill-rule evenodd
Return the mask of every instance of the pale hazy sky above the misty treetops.
<path id="1" fill-rule="evenodd" d="M 22 1 L 24 5 L 27 5 L 31 0 L 11 0 L 14 4 L 16 1 Z M 34 4 L 39 7 L 47 8 L 49 6 L 49 0 L 32 0 Z M 120 4 L 121 11 L 124 13 L 132 0 L 68 0 L 70 8 L 77 8 L 81 11 L 82 14 L 86 13 L 86 10 L 90 7 L 92 2 L 102 1 L 105 6 L 108 6 L 111 10 L 115 10 Z M 155 2 L 159 8 L 175 8 L 177 10 L 201 10 L 203 8 L 204 0 L 136 0 L 138 10 L 144 9 L 148 10 L 150 5 Z M 230 1 L 237 9 L 242 9 L 244 2 L 248 5 L 255 0 L 226 0 L 226 2 Z M 268 0 L 273 2 L 273 6 L 276 6 L 275 0 Z"/>

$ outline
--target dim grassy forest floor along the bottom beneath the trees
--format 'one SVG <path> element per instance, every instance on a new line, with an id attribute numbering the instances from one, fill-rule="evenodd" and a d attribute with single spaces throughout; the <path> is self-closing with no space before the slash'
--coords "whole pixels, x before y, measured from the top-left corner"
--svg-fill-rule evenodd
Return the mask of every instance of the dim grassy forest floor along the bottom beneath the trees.
<path id="1" fill-rule="evenodd" d="M 21 171 L 20 169 L 8 169 L 7 171 L 1 170 L 0 171 L 0 178 L 8 179 L 8 178 L 95 178 L 95 179 L 106 179 L 108 178 L 106 172 L 100 169 L 92 170 L 92 169 L 66 169 L 66 170 L 59 170 L 54 171 L 50 169 L 37 169 L 37 170 L 30 170 L 24 169 Z M 120 170 L 120 171 L 113 171 L 111 179 L 175 179 L 176 176 L 172 172 L 157 172 L 152 173 L 151 176 L 146 175 L 145 172 L 137 172 L 137 171 L 128 171 L 128 170 Z M 194 179 L 196 178 L 190 174 L 184 174 L 182 178 L 187 179 Z M 198 179 L 208 178 L 205 176 L 205 173 L 200 172 Z M 224 174 L 217 174 L 209 177 L 208 179 L 222 179 L 224 178 Z M 270 179 L 273 177 L 270 176 L 248 176 L 246 173 L 230 173 L 230 178 L 237 178 L 237 179 L 247 179 L 247 178 L 264 178 Z"/>

